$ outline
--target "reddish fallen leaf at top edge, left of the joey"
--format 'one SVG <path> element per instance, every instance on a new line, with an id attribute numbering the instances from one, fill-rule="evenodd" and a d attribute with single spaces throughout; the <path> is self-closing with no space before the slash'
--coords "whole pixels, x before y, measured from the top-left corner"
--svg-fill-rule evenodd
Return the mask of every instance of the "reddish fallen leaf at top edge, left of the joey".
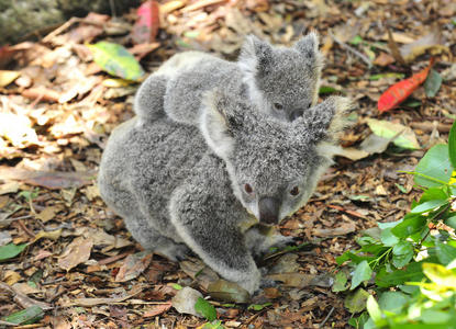
<path id="1" fill-rule="evenodd" d="M 157 1 L 148 0 L 137 9 L 137 21 L 133 26 L 132 38 L 135 44 L 149 44 L 158 33 L 159 5 Z"/>

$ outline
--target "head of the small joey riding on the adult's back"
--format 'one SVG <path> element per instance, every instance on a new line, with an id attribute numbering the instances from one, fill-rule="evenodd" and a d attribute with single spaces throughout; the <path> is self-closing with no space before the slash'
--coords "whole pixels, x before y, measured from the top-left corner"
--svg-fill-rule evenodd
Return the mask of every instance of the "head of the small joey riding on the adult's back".
<path id="1" fill-rule="evenodd" d="M 318 101 L 323 57 L 314 32 L 290 48 L 251 35 L 237 63 L 253 102 L 275 117 L 293 121 Z"/>

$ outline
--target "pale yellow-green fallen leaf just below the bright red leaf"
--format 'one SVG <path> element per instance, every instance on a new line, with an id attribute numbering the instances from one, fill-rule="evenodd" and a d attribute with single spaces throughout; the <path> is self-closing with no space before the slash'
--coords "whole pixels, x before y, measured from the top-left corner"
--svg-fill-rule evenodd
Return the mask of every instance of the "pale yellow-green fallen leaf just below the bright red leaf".
<path id="1" fill-rule="evenodd" d="M 416 136 L 410 127 L 405 127 L 401 124 L 391 123 L 383 120 L 369 118 L 367 121 L 369 128 L 377 136 L 392 139 L 396 146 L 407 149 L 419 149 L 420 144 L 416 140 Z"/>

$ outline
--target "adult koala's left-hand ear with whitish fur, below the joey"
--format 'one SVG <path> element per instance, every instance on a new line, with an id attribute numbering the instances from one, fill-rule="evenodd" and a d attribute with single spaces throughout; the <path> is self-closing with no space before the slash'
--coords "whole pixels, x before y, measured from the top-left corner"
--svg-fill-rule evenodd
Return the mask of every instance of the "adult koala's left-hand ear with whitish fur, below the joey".
<path id="1" fill-rule="evenodd" d="M 200 117 L 200 129 L 209 147 L 222 159 L 226 159 L 234 148 L 231 132 L 230 99 L 215 90 L 207 93 L 203 99 Z"/>

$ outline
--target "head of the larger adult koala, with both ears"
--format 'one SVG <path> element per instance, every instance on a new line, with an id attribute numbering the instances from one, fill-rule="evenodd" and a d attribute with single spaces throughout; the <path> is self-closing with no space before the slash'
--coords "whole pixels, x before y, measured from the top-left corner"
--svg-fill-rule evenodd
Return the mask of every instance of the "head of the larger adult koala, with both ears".
<path id="1" fill-rule="evenodd" d="M 260 223 L 274 225 L 304 205 L 332 163 L 348 107 L 346 99 L 333 97 L 285 122 L 238 98 L 213 92 L 205 100 L 200 128 L 224 160 L 235 196 Z"/>

